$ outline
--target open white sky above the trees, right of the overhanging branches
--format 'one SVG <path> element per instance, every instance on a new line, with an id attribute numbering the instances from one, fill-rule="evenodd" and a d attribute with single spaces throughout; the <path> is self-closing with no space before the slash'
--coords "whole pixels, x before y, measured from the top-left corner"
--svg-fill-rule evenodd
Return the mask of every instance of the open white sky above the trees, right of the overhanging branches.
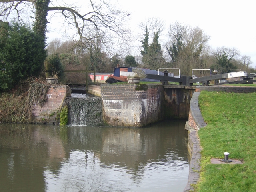
<path id="1" fill-rule="evenodd" d="M 119 4 L 130 13 L 129 23 L 135 33 L 136 26 L 147 18 L 160 18 L 166 29 L 176 21 L 199 26 L 211 37 L 212 48 L 235 47 L 241 55 L 251 57 L 252 67 L 256 66 L 254 0 L 119 0 Z M 49 33 L 49 40 L 52 38 L 58 38 L 58 34 Z"/>

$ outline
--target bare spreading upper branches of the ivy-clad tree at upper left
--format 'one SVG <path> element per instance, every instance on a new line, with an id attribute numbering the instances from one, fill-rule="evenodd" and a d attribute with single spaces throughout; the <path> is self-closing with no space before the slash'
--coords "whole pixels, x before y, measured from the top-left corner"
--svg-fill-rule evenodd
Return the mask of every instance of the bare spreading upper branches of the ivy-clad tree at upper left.
<path id="1" fill-rule="evenodd" d="M 51 19 L 62 17 L 65 27 L 70 26 L 76 29 L 78 42 L 101 38 L 101 42 L 104 43 L 109 41 L 113 34 L 121 40 L 129 33 L 124 26 L 129 14 L 112 5 L 110 1 L 98 0 L 96 3 L 93 0 L 87 0 L 87 2 L 81 2 L 80 7 L 67 2 L 64 0 L 0 0 L 0 17 L 6 21 L 15 16 L 19 22 L 24 22 L 25 16 L 29 16 L 27 18 L 34 19 L 34 30 L 44 37 L 47 23 Z M 28 10 L 31 11 L 28 12 Z M 49 12 L 53 14 L 48 18 Z M 88 39 L 87 34 L 92 30 L 97 31 L 96 36 Z"/>

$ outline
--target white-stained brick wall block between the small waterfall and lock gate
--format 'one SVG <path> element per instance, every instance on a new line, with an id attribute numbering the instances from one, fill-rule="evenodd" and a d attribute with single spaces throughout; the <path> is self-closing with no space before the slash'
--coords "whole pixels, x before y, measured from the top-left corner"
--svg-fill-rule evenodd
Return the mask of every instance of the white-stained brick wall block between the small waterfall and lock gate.
<path id="1" fill-rule="evenodd" d="M 104 120 L 113 126 L 144 126 L 164 118 L 162 85 L 102 84 Z"/>

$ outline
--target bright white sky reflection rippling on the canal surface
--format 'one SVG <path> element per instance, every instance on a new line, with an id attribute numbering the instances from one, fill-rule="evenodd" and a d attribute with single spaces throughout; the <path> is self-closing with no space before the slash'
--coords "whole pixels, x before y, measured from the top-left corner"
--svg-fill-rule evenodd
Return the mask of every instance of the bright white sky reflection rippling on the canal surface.
<path id="1" fill-rule="evenodd" d="M 140 164 L 137 169 L 130 169 L 118 164 L 103 164 L 97 154 L 90 151 L 72 150 L 70 158 L 62 163 L 60 172 L 46 170 L 44 177 L 49 192 L 156 192 L 168 191 L 170 185 L 175 188 L 175 185 L 180 184 L 182 180 L 186 184 L 187 172 L 188 162 L 185 161 L 152 161 Z"/>

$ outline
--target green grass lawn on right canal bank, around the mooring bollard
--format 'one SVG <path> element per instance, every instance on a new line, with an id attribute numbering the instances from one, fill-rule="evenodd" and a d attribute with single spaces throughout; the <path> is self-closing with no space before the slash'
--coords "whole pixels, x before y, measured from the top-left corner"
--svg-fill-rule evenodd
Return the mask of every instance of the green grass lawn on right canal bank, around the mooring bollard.
<path id="1" fill-rule="evenodd" d="M 256 93 L 202 91 L 199 107 L 207 123 L 198 131 L 203 148 L 198 192 L 256 192 Z M 243 164 L 211 164 L 211 158 Z"/>

